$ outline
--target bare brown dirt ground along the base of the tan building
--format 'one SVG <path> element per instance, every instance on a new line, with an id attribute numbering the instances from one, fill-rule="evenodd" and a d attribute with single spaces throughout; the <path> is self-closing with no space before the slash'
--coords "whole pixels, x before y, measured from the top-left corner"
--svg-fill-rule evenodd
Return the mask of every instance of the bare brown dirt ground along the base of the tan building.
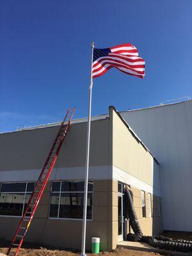
<path id="1" fill-rule="evenodd" d="M 0 253 L 6 253 L 8 250 L 9 242 L 0 241 Z M 19 256 L 79 256 L 79 252 L 72 250 L 56 250 L 56 248 L 44 248 L 35 246 L 35 244 L 25 244 L 20 249 Z M 87 253 L 88 256 L 92 256 L 92 253 Z M 135 250 L 128 250 L 124 248 L 116 248 L 113 252 L 100 252 L 99 256 L 169 256 L 169 253 L 154 253 L 154 252 L 141 252 Z"/>

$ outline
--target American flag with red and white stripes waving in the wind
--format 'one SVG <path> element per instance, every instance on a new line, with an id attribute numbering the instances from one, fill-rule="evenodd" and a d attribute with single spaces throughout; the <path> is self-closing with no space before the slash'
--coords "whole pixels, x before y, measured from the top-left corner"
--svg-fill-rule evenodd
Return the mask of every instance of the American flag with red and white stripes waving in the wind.
<path id="1" fill-rule="evenodd" d="M 145 76 L 145 60 L 140 58 L 138 49 L 130 43 L 93 50 L 93 78 L 102 76 L 113 67 L 131 76 Z"/>

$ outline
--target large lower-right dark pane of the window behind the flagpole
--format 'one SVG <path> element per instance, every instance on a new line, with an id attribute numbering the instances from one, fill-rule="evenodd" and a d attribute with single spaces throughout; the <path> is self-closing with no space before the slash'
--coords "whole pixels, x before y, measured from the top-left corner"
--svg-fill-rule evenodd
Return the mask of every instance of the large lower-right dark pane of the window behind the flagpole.
<path id="1" fill-rule="evenodd" d="M 84 193 L 61 193 L 60 218 L 83 218 Z M 87 218 L 92 219 L 92 193 L 88 193 Z"/>

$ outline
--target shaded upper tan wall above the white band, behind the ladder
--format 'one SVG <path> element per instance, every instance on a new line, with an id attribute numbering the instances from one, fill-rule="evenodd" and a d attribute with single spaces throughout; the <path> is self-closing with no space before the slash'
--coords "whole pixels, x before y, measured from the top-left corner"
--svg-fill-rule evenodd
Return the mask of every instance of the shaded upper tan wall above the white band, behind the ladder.
<path id="1" fill-rule="evenodd" d="M 58 167 L 85 165 L 86 125 L 84 122 L 70 126 L 58 157 Z M 0 134 L 0 171 L 41 169 L 58 129 L 45 127 Z M 93 121 L 90 165 L 109 164 L 109 119 Z"/>

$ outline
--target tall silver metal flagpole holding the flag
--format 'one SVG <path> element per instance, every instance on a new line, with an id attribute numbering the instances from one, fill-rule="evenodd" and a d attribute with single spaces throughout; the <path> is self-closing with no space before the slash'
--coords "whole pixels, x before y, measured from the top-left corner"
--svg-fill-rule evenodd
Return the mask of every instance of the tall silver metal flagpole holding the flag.
<path id="1" fill-rule="evenodd" d="M 89 110 L 88 110 L 88 122 L 87 122 L 87 134 L 86 134 L 86 164 L 85 164 L 85 175 L 84 175 L 84 204 L 83 204 L 83 230 L 82 230 L 81 256 L 86 256 L 85 254 L 86 211 L 87 211 L 88 173 L 89 173 L 89 159 L 90 159 L 90 128 L 91 128 L 91 113 L 92 113 L 93 49 L 94 49 L 94 43 L 92 42 L 92 68 L 91 68 L 91 77 L 90 77 Z"/>

